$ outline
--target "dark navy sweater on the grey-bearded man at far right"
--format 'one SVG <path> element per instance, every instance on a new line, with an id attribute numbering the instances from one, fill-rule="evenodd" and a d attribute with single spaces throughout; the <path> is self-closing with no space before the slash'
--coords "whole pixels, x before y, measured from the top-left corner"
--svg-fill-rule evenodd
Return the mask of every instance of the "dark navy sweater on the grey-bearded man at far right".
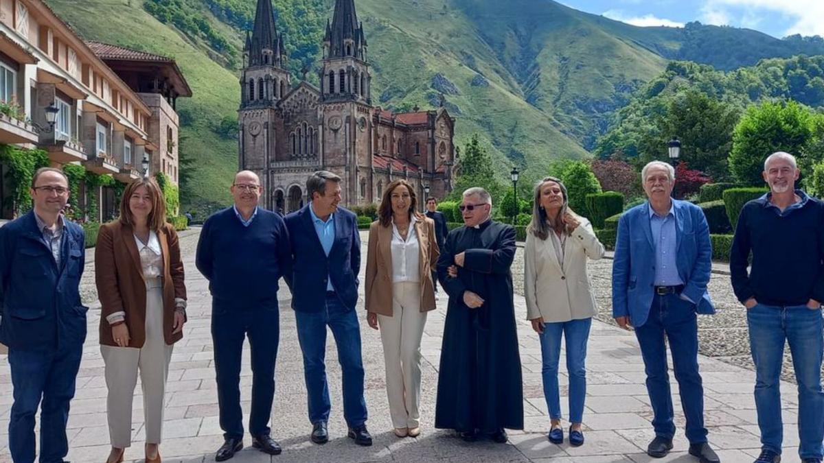
<path id="1" fill-rule="evenodd" d="M 799 196 L 806 198 L 801 191 Z M 747 258 L 752 251 L 752 268 Z M 766 195 L 744 205 L 730 251 L 733 291 L 768 306 L 824 302 L 824 203 L 807 198 L 801 208 L 770 205 Z"/>

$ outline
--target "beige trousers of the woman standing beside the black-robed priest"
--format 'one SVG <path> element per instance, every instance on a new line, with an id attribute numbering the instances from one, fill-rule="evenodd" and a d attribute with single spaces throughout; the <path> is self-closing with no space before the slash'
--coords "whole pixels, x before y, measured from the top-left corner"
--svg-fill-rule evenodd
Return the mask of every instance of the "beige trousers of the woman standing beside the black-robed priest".
<path id="1" fill-rule="evenodd" d="M 420 283 L 394 283 L 392 295 L 392 316 L 377 316 L 386 362 L 389 414 L 395 428 L 417 428 L 420 425 L 420 339 L 426 325 L 426 312 L 420 311 Z"/>

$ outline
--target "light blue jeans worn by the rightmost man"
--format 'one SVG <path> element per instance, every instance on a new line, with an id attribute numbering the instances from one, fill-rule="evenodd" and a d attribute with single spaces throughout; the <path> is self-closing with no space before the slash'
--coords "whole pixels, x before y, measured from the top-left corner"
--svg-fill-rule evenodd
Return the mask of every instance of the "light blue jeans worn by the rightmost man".
<path id="1" fill-rule="evenodd" d="M 752 360 L 756 364 L 756 409 L 762 448 L 781 453 L 784 426 L 779 381 L 786 340 L 798 381 L 798 437 L 801 442 L 798 455 L 822 458 L 824 320 L 821 309 L 813 311 L 807 306 L 757 304 L 747 311 L 747 326 Z"/>

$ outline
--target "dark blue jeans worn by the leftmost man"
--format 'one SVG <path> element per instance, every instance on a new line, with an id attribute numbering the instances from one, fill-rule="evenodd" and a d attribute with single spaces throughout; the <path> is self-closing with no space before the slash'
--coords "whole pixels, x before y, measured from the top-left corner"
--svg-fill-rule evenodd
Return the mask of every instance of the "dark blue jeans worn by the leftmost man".
<path id="1" fill-rule="evenodd" d="M 14 405 L 8 423 L 8 448 L 15 463 L 35 461 L 35 413 L 38 405 L 40 463 L 60 462 L 68 454 L 68 404 L 74 397 L 82 353 L 82 344 L 63 350 L 8 350 L 14 387 Z"/>

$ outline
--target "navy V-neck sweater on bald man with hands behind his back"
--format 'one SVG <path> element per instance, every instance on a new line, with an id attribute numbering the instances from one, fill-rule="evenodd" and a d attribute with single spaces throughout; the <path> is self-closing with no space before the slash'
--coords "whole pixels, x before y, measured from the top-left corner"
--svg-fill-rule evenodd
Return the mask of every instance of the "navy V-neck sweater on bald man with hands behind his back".
<path id="1" fill-rule="evenodd" d="M 278 279 L 292 268 L 283 218 L 258 208 L 255 220 L 244 227 L 234 208 L 214 213 L 200 232 L 195 264 L 221 302 L 277 303 Z"/>

